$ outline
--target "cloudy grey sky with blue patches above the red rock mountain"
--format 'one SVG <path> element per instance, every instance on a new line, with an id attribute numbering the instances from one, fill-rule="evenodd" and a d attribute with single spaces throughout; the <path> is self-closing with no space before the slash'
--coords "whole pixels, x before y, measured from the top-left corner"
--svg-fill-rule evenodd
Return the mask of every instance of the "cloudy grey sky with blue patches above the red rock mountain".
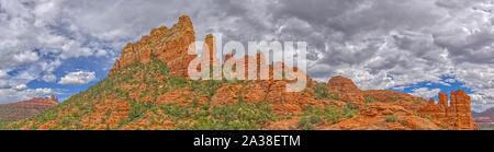
<path id="1" fill-rule="evenodd" d="M 181 15 L 197 39 L 307 42 L 307 73 L 494 106 L 493 0 L 0 0 L 0 104 L 103 80 L 127 43 Z"/>

